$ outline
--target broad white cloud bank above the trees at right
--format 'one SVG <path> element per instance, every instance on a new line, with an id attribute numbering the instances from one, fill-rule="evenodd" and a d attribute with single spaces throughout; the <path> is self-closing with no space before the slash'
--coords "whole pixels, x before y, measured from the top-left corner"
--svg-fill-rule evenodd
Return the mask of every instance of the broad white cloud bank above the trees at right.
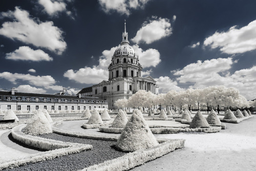
<path id="1" fill-rule="evenodd" d="M 192 83 L 191 88 L 205 88 L 208 86 L 226 86 L 237 88 L 247 99 L 256 97 L 256 66 L 238 70 L 230 75 L 229 70 L 236 60 L 232 58 L 218 58 L 197 61 L 184 67 L 180 71 L 173 71 L 178 83 Z"/>

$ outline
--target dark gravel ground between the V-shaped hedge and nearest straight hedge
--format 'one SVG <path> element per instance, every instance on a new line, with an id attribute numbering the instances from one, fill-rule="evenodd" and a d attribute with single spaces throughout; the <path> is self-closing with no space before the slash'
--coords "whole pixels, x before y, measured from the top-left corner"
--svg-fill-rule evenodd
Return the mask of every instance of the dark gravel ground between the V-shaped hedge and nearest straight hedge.
<path id="1" fill-rule="evenodd" d="M 114 141 L 82 139 L 62 136 L 54 133 L 43 135 L 40 137 L 60 140 L 64 142 L 92 144 L 93 149 L 86 152 L 62 156 L 53 160 L 47 160 L 7 170 L 78 170 L 126 154 L 116 151 L 113 148 L 113 145 L 115 145 L 116 143 Z"/>

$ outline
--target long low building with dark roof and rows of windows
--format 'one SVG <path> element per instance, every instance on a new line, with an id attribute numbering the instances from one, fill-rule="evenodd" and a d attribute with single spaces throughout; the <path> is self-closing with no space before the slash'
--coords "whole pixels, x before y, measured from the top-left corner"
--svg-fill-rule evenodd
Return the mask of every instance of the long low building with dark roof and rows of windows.
<path id="1" fill-rule="evenodd" d="M 59 94 L 22 93 L 13 88 L 0 91 L 0 110 L 34 111 L 34 110 L 102 110 L 108 103 L 99 97 L 84 97 Z"/>

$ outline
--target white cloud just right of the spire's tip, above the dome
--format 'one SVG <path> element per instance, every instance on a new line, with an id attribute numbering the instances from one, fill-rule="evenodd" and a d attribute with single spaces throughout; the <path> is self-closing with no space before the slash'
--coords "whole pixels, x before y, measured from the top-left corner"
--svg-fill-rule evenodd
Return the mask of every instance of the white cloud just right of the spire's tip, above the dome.
<path id="1" fill-rule="evenodd" d="M 169 19 L 152 17 L 153 20 L 144 22 L 142 27 L 137 31 L 136 36 L 131 40 L 139 44 L 145 42 L 151 44 L 163 37 L 172 34 L 172 27 L 170 26 Z"/>

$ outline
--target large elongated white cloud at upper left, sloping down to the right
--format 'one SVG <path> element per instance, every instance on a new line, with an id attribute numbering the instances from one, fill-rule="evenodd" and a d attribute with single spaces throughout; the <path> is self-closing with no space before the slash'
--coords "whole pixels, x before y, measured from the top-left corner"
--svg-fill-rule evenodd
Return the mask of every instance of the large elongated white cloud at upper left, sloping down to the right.
<path id="1" fill-rule="evenodd" d="M 43 23 L 39 19 L 33 19 L 27 11 L 19 7 L 15 7 L 14 11 L 2 12 L 1 16 L 10 17 L 13 22 L 5 22 L 0 29 L 0 35 L 46 48 L 59 55 L 66 50 L 67 44 L 63 40 L 63 32 L 53 26 L 53 22 Z"/>

